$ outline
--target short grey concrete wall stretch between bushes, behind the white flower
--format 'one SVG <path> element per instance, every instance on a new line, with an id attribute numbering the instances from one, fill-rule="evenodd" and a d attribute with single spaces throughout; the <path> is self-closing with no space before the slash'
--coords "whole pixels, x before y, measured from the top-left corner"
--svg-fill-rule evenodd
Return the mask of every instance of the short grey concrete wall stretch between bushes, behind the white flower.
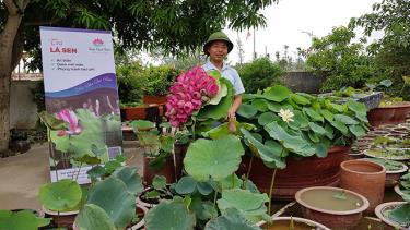
<path id="1" fill-rule="evenodd" d="M 286 72 L 282 81 L 292 92 L 318 94 L 326 76 L 316 76 L 313 72 Z"/>

